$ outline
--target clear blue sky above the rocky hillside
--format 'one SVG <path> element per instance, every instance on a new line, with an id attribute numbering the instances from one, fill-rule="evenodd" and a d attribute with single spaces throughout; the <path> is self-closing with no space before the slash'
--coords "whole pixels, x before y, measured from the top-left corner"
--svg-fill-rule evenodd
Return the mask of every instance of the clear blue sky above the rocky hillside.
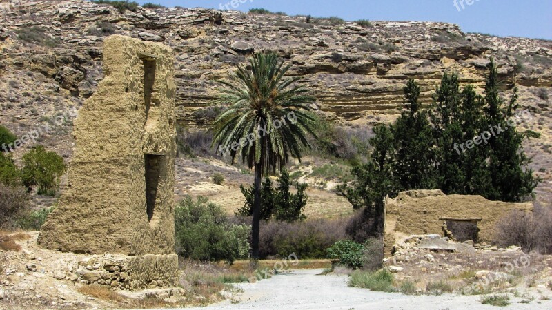
<path id="1" fill-rule="evenodd" d="M 139 0 L 164 6 L 220 8 L 232 0 Z M 239 3 L 240 0 L 234 0 Z M 445 21 L 465 32 L 552 39 L 551 0 L 241 0 L 234 10 L 266 8 L 290 15 L 342 17 L 348 21 Z M 456 2 L 455 2 L 456 1 Z M 455 5 L 455 3 L 457 3 Z M 463 3 L 463 6 L 462 6 Z M 469 4 L 471 3 L 471 4 Z"/>

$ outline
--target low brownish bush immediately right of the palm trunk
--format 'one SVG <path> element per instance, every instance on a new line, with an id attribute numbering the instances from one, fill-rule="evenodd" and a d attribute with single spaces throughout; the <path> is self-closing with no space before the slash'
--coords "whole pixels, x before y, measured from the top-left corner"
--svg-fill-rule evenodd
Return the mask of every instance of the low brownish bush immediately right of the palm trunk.
<path id="1" fill-rule="evenodd" d="M 295 223 L 270 220 L 261 223 L 259 255 L 262 259 L 288 257 L 299 259 L 326 258 L 326 249 L 347 238 L 345 219 L 313 219 Z"/>

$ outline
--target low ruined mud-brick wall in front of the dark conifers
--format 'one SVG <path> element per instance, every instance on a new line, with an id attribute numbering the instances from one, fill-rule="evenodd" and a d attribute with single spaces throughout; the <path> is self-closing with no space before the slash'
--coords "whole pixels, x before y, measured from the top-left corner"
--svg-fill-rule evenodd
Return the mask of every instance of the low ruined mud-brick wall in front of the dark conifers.
<path id="1" fill-rule="evenodd" d="M 397 198 L 385 200 L 385 256 L 391 256 L 393 245 L 408 236 L 442 234 L 445 220 L 477 222 L 478 240 L 493 242 L 498 221 L 515 209 L 533 211 L 533 204 L 502 203 L 482 196 L 447 196 L 438 189 L 401 192 Z"/>

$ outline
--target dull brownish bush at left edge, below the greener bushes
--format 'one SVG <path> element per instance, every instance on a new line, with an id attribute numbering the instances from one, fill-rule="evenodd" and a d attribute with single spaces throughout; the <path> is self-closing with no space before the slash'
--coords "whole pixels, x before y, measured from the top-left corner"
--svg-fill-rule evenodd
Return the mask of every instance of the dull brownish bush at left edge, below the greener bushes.
<path id="1" fill-rule="evenodd" d="M 0 228 L 9 229 L 28 209 L 28 195 L 21 186 L 0 183 Z"/>

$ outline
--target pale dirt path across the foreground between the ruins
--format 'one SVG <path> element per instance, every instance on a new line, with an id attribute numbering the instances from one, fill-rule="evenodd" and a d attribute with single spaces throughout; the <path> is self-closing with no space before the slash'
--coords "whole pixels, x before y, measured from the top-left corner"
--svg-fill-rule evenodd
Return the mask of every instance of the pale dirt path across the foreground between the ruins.
<path id="1" fill-rule="evenodd" d="M 346 276 L 317 276 L 322 269 L 296 270 L 246 285 L 235 301 L 226 300 L 209 307 L 217 309 L 499 309 L 479 302 L 480 296 L 406 296 L 347 287 Z M 500 309 L 552 309 L 552 300 L 534 300 Z M 237 302 L 239 301 L 239 302 Z"/>

